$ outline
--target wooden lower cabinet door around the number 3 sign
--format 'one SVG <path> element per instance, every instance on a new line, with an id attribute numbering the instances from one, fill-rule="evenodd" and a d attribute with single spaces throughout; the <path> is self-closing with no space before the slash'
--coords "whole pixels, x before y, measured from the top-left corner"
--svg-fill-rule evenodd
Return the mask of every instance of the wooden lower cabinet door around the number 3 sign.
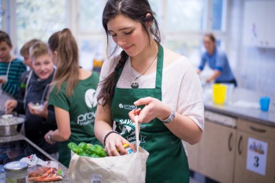
<path id="1" fill-rule="evenodd" d="M 259 141 L 264 141 L 267 143 L 267 160 L 265 166 L 265 175 L 255 173 L 246 168 L 247 155 L 248 155 L 248 138 L 255 138 Z M 252 159 L 253 160 L 253 159 Z M 255 166 L 259 166 L 259 160 L 255 156 L 254 163 Z M 272 140 L 267 140 L 266 138 L 255 136 L 252 133 L 243 132 L 241 130 L 237 131 L 237 141 L 236 141 L 236 163 L 234 172 L 234 182 L 235 183 L 274 183 L 275 182 L 275 143 Z"/>

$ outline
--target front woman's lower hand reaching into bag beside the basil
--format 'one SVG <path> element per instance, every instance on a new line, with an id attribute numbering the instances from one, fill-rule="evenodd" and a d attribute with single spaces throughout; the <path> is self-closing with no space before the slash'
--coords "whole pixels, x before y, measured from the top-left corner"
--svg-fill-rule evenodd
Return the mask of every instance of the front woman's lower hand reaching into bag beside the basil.
<path id="1" fill-rule="evenodd" d="M 135 146 L 129 143 L 129 141 L 126 141 L 125 138 L 123 138 L 122 136 L 116 133 L 109 134 L 109 136 L 107 136 L 105 141 L 105 148 L 108 151 L 108 155 L 120 156 L 120 153 L 117 151 L 117 149 L 120 149 L 121 154 L 127 154 L 127 151 L 123 147 L 125 143 L 128 143 L 129 146 L 135 152 Z"/>

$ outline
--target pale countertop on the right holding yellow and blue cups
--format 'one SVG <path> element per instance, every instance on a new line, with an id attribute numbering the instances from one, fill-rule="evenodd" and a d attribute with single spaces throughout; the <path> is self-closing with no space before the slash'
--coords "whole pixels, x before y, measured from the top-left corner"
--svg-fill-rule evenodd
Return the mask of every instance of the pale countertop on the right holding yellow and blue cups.
<path id="1" fill-rule="evenodd" d="M 270 108 L 267 112 L 261 111 L 259 108 L 261 96 L 270 97 Z M 203 101 L 205 110 L 275 127 L 275 96 L 273 95 L 236 87 L 227 97 L 225 103 L 218 105 L 212 101 L 211 85 L 207 85 L 203 86 Z"/>

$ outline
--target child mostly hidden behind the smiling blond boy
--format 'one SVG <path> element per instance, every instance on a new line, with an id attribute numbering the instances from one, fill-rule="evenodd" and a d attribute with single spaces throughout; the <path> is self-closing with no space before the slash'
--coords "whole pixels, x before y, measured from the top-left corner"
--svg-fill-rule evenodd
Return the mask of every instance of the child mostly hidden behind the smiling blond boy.
<path id="1" fill-rule="evenodd" d="M 20 49 L 20 54 L 24 58 L 23 63 L 26 66 L 28 66 L 30 69 L 32 69 L 32 59 L 30 58 L 29 50 L 30 50 L 30 47 L 32 47 L 32 45 L 34 45 L 34 43 L 39 42 L 39 41 L 41 41 L 41 40 L 38 40 L 38 39 L 29 40 Z M 17 99 L 19 99 L 19 100 L 23 100 L 25 97 L 25 86 L 27 84 L 27 80 L 28 80 L 28 77 L 30 74 L 30 69 L 29 69 L 29 71 L 25 71 L 21 74 L 20 85 L 19 85 L 19 95 L 17 97 Z"/>

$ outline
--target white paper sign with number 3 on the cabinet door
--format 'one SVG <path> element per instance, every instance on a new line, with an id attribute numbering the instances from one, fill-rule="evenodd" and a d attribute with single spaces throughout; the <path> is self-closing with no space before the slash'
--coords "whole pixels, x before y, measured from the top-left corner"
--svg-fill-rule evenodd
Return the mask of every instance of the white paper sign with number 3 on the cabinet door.
<path id="1" fill-rule="evenodd" d="M 248 156 L 246 169 L 265 175 L 267 143 L 255 138 L 248 138 Z"/>

